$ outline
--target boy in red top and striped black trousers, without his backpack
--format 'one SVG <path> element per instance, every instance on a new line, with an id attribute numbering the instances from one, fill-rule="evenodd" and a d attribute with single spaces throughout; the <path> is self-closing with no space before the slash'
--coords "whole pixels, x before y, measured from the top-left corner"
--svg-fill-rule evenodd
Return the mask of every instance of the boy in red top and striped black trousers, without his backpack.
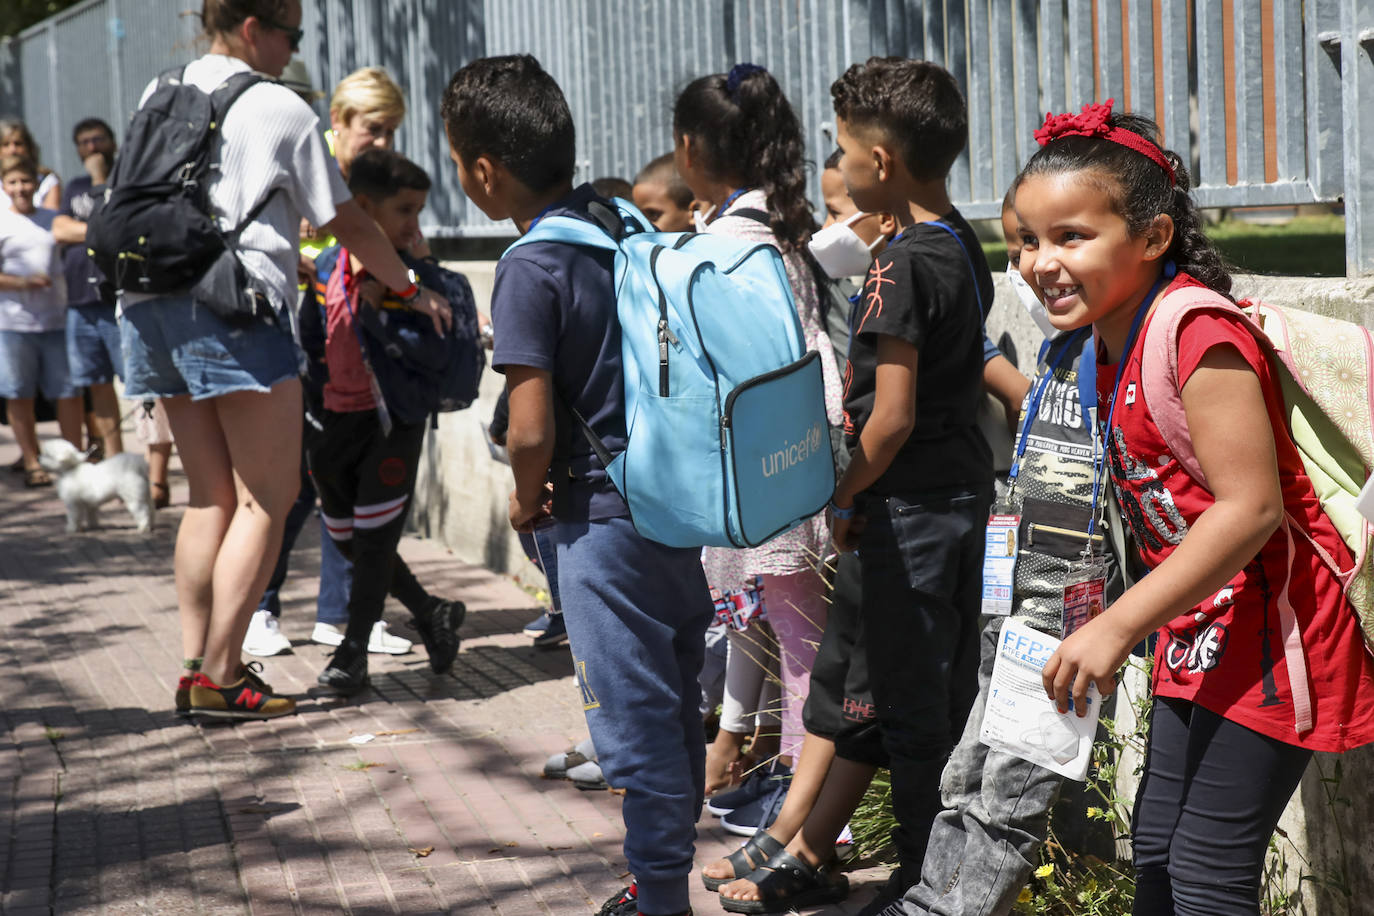
<path id="1" fill-rule="evenodd" d="M 349 174 L 353 199 L 376 220 L 397 251 L 419 236 L 429 187 L 422 168 L 390 150 L 367 150 L 353 161 Z M 425 420 L 403 419 L 403 413 L 414 413 L 412 405 L 392 404 L 387 411 L 387 393 L 375 383 L 363 350 L 359 310 L 407 306 L 368 277 L 348 249 L 338 253 L 324 302 L 330 378 L 319 417 L 323 428 L 306 427 L 305 446 L 320 494 L 320 516 L 339 551 L 353 562 L 354 575 L 344 641 L 317 680 L 334 692 L 352 695 L 368 684 L 368 641 L 382 619 L 387 593 L 414 615 L 436 674 L 453 665 L 456 630 L 467 608 L 462 602 L 429 595 L 396 553 L 415 490 Z M 378 404 L 379 394 L 383 404 Z"/>

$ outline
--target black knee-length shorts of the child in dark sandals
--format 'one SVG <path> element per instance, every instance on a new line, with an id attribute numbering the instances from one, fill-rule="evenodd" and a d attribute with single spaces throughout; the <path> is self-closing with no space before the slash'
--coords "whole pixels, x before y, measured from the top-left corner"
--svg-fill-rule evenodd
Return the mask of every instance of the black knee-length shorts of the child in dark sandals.
<path id="1" fill-rule="evenodd" d="M 888 754 L 882 748 L 868 687 L 860 581 L 859 556 L 841 555 L 835 563 L 826 632 L 811 667 L 811 694 L 801 717 L 809 733 L 835 743 L 837 757 L 886 766 Z"/>

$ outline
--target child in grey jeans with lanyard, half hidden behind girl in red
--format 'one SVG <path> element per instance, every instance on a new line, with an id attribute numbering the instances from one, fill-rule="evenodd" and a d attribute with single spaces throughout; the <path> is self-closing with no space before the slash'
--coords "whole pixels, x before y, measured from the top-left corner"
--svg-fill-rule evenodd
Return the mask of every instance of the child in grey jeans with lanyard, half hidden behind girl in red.
<path id="1" fill-rule="evenodd" d="M 1002 205 L 1011 269 L 1021 257 L 1014 199 L 1014 192 L 1007 194 Z M 1043 312 L 1025 284 L 1013 283 L 1013 288 L 1032 313 Z M 1030 293 L 1029 299 L 1025 293 Z M 1018 549 L 1010 619 L 1055 637 L 1065 628 L 1065 580 L 1090 540 L 1106 560 L 1106 599 L 1121 595 L 1120 566 L 1114 552 L 1103 549 L 1103 529 L 1096 526 L 1088 534 L 1095 511 L 1092 468 L 1099 455 L 1095 383 L 1092 334 L 1087 328 L 1055 331 L 1040 352 L 1040 372 L 1011 449 L 1010 490 L 999 500 L 1021 516 L 1014 529 Z M 1112 523 L 1120 520 L 1112 518 Z M 991 748 L 980 737 L 998 640 L 1007 619 L 991 617 L 982 629 L 978 698 L 941 777 L 944 810 L 930 828 L 921 882 L 907 890 L 904 908 L 893 904 L 888 911 L 892 916 L 1004 916 L 1030 879 L 1063 777 Z"/>

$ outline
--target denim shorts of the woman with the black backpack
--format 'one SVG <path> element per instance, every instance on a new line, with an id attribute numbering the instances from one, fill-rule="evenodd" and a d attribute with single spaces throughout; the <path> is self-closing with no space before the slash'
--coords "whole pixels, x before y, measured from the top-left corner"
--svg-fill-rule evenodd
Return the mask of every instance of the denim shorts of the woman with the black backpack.
<path id="1" fill-rule="evenodd" d="M 192 401 L 234 391 L 271 391 L 297 375 L 295 341 L 272 319 L 227 324 L 190 295 L 135 302 L 120 320 L 124 397 Z"/>

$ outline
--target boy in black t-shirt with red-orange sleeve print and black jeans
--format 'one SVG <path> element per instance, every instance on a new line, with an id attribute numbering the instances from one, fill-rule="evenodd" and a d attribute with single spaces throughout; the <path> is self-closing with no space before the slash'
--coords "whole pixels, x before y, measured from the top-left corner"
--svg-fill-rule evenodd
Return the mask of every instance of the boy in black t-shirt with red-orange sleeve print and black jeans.
<path id="1" fill-rule="evenodd" d="M 867 655 L 892 768 L 901 867 L 921 875 L 940 772 L 977 694 L 984 526 L 992 455 L 978 433 L 982 312 L 992 275 L 945 177 L 967 141 L 958 84 L 903 58 L 855 65 L 830 88 L 840 170 L 860 210 L 899 235 L 851 317 L 845 434 L 830 507 L 835 544 L 859 548 Z"/>

